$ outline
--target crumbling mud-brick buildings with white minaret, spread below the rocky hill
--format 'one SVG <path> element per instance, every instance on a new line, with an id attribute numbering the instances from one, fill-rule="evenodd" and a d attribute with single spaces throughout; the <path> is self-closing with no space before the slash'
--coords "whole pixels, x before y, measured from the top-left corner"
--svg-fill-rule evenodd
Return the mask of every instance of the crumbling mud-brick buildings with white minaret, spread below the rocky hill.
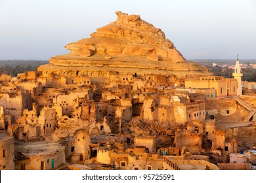
<path id="1" fill-rule="evenodd" d="M 1 75 L 0 169 L 249 169 L 215 120 L 236 112 L 238 79 Z"/>

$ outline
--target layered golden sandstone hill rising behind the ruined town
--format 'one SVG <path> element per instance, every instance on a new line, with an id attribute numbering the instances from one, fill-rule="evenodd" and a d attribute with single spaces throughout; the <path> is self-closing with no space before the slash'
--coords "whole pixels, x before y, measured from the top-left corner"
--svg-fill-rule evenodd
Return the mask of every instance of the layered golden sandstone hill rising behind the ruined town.
<path id="1" fill-rule="evenodd" d="M 161 29 L 139 15 L 116 14 L 116 22 L 98 28 L 91 38 L 67 44 L 70 54 L 51 58 L 39 71 L 58 75 L 57 70 L 83 71 L 87 75 L 89 71 L 135 73 L 140 69 L 146 74 L 209 75 L 205 67 L 187 61 Z"/>

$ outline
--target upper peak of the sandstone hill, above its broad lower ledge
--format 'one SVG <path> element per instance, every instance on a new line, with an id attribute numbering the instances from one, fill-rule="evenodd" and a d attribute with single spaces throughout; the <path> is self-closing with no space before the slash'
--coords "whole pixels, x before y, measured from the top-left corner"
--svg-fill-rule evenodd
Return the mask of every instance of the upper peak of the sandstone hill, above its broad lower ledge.
<path id="1" fill-rule="evenodd" d="M 91 38 L 66 45 L 76 56 L 93 54 L 127 54 L 158 61 L 167 59 L 182 62 L 184 58 L 175 49 L 173 42 L 165 39 L 161 29 L 140 19 L 139 15 L 116 12 L 117 20 L 100 27 Z"/>

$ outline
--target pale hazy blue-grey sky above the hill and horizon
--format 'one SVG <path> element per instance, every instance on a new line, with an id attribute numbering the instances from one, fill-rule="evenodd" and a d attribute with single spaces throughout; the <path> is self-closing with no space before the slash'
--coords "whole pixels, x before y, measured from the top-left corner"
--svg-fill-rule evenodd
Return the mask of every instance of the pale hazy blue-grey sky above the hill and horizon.
<path id="1" fill-rule="evenodd" d="M 159 27 L 186 59 L 256 59 L 256 0 L 0 0 L 0 59 L 49 59 L 116 21 Z"/>

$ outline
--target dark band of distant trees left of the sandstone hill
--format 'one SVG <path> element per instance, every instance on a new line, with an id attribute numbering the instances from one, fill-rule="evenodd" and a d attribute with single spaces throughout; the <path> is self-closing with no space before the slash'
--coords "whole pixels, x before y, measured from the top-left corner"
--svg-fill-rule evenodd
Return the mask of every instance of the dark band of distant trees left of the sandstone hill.
<path id="1" fill-rule="evenodd" d="M 17 76 L 25 71 L 36 71 L 37 67 L 47 63 L 47 60 L 0 60 L 0 75 Z"/>

